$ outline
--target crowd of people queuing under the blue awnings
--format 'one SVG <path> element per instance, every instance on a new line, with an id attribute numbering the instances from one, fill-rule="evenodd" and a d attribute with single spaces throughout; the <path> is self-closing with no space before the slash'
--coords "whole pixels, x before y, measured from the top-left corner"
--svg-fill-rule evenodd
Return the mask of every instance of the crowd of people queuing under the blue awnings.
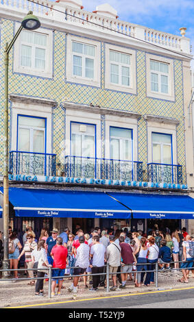
<path id="1" fill-rule="evenodd" d="M 154 227 L 147 236 L 141 230 L 130 232 L 127 227 L 124 230 L 104 228 L 102 231 L 95 227 L 90 234 L 84 234 L 79 225 L 75 235 L 68 227 L 61 234 L 53 228 L 50 235 L 43 229 L 38 240 L 32 227 L 27 227 L 23 246 L 11 227 L 9 235 L 10 269 L 15 269 L 14 281 L 19 278 L 16 271 L 19 260 L 25 256 L 25 274 L 28 273 L 29 277 L 27 284 L 35 285 L 34 271 L 30 269 L 36 269 L 35 273 L 40 277 L 36 280 L 36 296 L 44 295 L 44 279 L 48 280 L 49 267 L 53 268 L 52 297 L 60 295 L 64 275 L 69 275 L 69 280 L 72 280 L 68 288 L 72 293 L 77 293 L 82 278 L 80 275 L 83 276 L 84 287 L 90 291 L 106 288 L 107 264 L 112 280 L 110 290 L 116 290 L 118 286 L 125 288 L 128 279 L 134 281 L 136 287 L 154 284 L 156 262 L 160 271 L 181 270 L 179 282 L 188 283 L 190 271 L 194 276 L 194 238 L 189 236 L 185 227 L 182 232 L 176 229 L 172 233 L 169 229 L 161 232 Z"/>

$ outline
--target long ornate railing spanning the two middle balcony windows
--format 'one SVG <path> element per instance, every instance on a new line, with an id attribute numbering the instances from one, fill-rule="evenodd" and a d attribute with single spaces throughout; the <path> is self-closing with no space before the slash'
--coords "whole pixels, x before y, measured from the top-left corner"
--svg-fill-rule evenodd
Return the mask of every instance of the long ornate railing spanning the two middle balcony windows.
<path id="1" fill-rule="evenodd" d="M 67 177 L 142 181 L 143 163 L 104 158 L 65 157 Z"/>

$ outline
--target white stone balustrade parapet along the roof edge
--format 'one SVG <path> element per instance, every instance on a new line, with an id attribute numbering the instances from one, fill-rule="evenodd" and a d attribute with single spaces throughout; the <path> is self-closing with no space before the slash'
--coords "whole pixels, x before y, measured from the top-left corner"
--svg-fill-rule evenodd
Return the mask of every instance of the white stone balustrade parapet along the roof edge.
<path id="1" fill-rule="evenodd" d="M 103 33 L 103 35 L 106 36 L 104 38 L 107 38 L 107 36 L 108 38 L 111 36 L 114 38 L 117 36 L 118 38 L 119 36 L 119 41 L 121 40 L 122 42 L 127 39 L 124 36 L 131 36 L 130 42 L 134 42 L 134 45 L 138 45 L 138 47 L 147 47 L 149 44 L 157 45 L 159 48 L 155 46 L 153 47 L 153 50 L 161 51 L 160 47 L 162 47 L 162 49 L 171 49 L 171 51 L 175 51 L 175 53 L 186 53 L 188 54 L 188 58 L 191 58 L 189 38 L 160 32 L 134 23 L 119 21 L 116 17 L 111 18 L 108 14 L 104 16 L 102 11 L 100 12 L 101 14 L 88 12 L 82 10 L 83 7 L 80 8 L 81 1 L 77 1 L 78 8 L 76 6 L 70 7 L 69 5 L 66 5 L 65 1 L 64 3 L 62 1 L 58 3 L 49 0 L 34 0 L 34 2 L 27 0 L 1 0 L 0 16 L 1 18 L 21 21 L 28 8 L 28 10 L 32 10 L 34 14 L 41 19 L 41 23 L 45 27 L 65 30 L 73 30 L 73 28 L 76 28 L 78 33 L 86 32 L 88 34 L 88 32 L 93 32 L 94 34 L 97 32 L 98 36 L 100 32 L 101 35 Z M 69 0 L 69 3 L 70 2 L 75 3 L 76 1 Z M 55 8 L 58 11 L 55 11 Z M 114 8 L 112 9 L 114 10 Z M 117 34 L 114 32 L 117 32 Z M 143 40 L 145 43 L 139 40 Z M 173 55 L 173 53 L 171 53 L 171 55 Z"/>

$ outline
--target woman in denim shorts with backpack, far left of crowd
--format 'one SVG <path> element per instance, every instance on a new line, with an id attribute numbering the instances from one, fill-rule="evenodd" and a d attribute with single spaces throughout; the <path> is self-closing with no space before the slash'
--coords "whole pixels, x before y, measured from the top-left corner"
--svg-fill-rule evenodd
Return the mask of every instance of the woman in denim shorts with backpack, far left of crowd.
<path id="1" fill-rule="evenodd" d="M 22 245 L 17 238 L 17 232 L 14 230 L 9 238 L 9 260 L 10 260 L 10 269 L 17 269 L 19 264 L 19 253 L 22 249 Z M 14 271 L 14 278 L 18 277 L 18 271 Z"/>

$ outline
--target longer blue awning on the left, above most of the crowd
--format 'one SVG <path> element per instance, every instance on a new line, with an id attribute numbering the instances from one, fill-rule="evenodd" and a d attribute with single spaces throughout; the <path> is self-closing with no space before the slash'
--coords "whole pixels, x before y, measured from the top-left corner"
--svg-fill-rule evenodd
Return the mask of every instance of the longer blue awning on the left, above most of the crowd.
<path id="1" fill-rule="evenodd" d="M 16 216 L 129 219 L 131 215 L 99 192 L 10 188 L 9 199 Z"/>

